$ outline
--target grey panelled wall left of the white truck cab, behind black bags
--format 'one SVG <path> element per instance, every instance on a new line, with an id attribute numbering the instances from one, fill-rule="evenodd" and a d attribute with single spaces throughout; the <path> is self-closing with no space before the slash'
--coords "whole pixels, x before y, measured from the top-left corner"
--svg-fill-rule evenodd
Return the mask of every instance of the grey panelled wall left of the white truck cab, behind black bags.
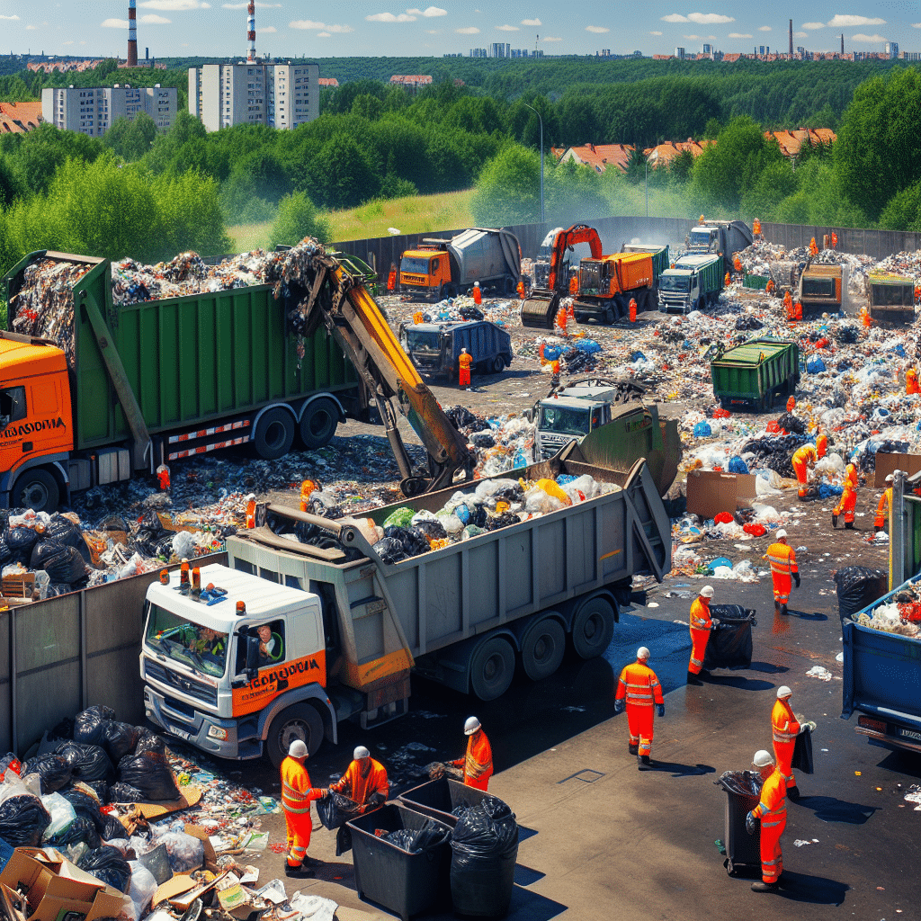
<path id="1" fill-rule="evenodd" d="M 225 554 L 196 560 L 226 562 Z M 0 752 L 24 755 L 45 729 L 94 704 L 144 721 L 138 657 L 157 573 L 0 612 Z"/>

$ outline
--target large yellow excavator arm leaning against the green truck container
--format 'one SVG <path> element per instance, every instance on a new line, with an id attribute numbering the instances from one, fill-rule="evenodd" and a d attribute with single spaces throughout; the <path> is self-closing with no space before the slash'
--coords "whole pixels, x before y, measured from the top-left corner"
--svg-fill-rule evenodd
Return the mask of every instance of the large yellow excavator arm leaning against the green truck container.
<path id="1" fill-rule="evenodd" d="M 297 297 L 297 328 L 309 335 L 325 327 L 374 396 L 400 468 L 403 495 L 442 489 L 459 471 L 470 478 L 473 459 L 466 439 L 419 377 L 361 276 L 348 272 L 344 263 L 319 244 L 312 250 L 297 247 L 290 251 L 282 273 L 279 284 L 284 283 L 289 295 Z M 288 320 L 290 323 L 290 311 Z M 398 412 L 422 439 L 428 453 L 428 476 L 412 469 L 397 429 Z"/>

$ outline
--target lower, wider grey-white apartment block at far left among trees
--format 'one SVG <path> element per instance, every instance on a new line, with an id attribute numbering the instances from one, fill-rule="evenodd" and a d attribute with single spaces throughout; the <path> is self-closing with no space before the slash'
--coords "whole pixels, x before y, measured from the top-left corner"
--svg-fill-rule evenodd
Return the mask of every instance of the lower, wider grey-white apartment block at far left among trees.
<path id="1" fill-rule="evenodd" d="M 133 121 L 146 112 L 166 131 L 176 118 L 175 87 L 46 87 L 41 90 L 41 117 L 64 131 L 101 137 L 118 118 Z"/>

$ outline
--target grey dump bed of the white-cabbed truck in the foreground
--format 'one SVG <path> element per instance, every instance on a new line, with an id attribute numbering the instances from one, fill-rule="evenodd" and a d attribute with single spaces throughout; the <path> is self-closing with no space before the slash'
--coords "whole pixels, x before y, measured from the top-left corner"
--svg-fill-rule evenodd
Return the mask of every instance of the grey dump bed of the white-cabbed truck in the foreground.
<path id="1" fill-rule="evenodd" d="M 604 591 L 617 600 L 616 589 L 625 603 L 634 574 L 661 579 L 670 570 L 670 522 L 646 462 L 624 473 L 568 461 L 566 454 L 490 479 L 589 473 L 618 488 L 395 564 L 385 563 L 356 528 L 311 517 L 359 558 L 323 559 L 326 551 L 284 539 L 268 547 L 237 537 L 227 541 L 230 565 L 320 594 L 327 610 L 338 612 L 347 659 L 367 663 L 405 648 L 418 667 L 440 670 L 438 680 L 466 692 L 468 667 L 451 666 L 452 657 L 463 661 L 465 644 L 495 628 L 514 636 L 524 618 L 548 609 L 571 629 L 587 594 Z M 434 512 L 457 488 L 367 514 L 380 524 L 397 507 Z"/>

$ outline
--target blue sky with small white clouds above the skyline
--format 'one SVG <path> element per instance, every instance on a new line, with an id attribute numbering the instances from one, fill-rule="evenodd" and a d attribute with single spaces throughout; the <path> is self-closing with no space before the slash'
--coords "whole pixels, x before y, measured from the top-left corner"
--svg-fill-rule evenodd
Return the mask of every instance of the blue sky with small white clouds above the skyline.
<path id="1" fill-rule="evenodd" d="M 219 0 L 136 0 L 139 55 L 227 57 L 245 54 L 247 4 Z M 405 2 L 405 0 L 404 0 Z M 256 51 L 275 57 L 435 56 L 466 54 L 495 41 L 545 54 L 752 52 L 766 45 L 881 52 L 887 41 L 921 51 L 921 7 L 900 0 L 845 6 L 714 0 L 683 6 L 671 0 L 569 4 L 559 0 L 436 0 L 440 6 L 397 6 L 391 0 L 256 4 Z M 0 0 L 0 53 L 45 52 L 125 56 L 128 0 Z"/>

